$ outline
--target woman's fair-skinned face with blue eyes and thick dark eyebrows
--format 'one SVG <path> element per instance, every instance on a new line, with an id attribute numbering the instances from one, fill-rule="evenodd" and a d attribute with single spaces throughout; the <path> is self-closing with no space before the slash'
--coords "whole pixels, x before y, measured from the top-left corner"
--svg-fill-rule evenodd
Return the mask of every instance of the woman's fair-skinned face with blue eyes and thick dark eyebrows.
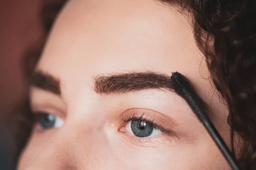
<path id="1" fill-rule="evenodd" d="M 230 143 L 188 18 L 154 0 L 72 0 L 31 80 L 37 123 L 19 170 L 223 170 L 224 157 L 169 88 L 188 77 Z"/>

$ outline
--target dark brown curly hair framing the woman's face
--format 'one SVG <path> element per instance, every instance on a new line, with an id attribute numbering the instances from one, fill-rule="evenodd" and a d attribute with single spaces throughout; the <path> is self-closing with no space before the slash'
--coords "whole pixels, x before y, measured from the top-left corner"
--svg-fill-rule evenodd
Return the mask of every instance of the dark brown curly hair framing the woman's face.
<path id="1" fill-rule="evenodd" d="M 46 35 L 65 1 L 50 3 L 42 10 Z M 243 139 L 239 162 L 245 169 L 256 169 L 256 1 L 160 1 L 178 4 L 191 14 L 195 41 L 205 56 L 213 84 L 230 111 L 227 122 L 231 139 L 235 134 Z M 27 75 L 39 57 L 32 64 L 29 58 L 25 60 Z"/>

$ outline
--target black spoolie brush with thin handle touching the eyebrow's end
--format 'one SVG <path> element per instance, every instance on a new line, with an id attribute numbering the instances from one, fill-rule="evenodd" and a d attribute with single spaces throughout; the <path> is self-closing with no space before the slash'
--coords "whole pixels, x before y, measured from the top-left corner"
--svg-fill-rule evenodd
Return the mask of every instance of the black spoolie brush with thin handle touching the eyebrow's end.
<path id="1" fill-rule="evenodd" d="M 235 156 L 230 152 L 226 143 L 224 142 L 224 139 L 222 139 L 221 135 L 210 121 L 207 112 L 204 110 L 202 100 L 195 94 L 195 91 L 192 89 L 189 80 L 182 74 L 174 72 L 172 73 L 171 82 L 175 93 L 186 100 L 189 107 L 198 117 L 200 122 L 204 125 L 233 170 L 241 170 L 241 167 L 238 164 Z"/>

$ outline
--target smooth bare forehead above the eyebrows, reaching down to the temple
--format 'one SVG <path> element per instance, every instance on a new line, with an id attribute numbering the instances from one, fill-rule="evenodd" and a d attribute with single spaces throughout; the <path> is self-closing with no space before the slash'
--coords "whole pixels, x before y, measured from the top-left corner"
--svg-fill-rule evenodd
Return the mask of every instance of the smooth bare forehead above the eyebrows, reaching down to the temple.
<path id="1" fill-rule="evenodd" d="M 174 5 L 155 0 L 72 0 L 52 29 L 38 69 L 59 77 L 67 98 L 92 93 L 93 77 L 100 74 L 178 71 L 219 111 L 202 56 L 188 18 Z"/>

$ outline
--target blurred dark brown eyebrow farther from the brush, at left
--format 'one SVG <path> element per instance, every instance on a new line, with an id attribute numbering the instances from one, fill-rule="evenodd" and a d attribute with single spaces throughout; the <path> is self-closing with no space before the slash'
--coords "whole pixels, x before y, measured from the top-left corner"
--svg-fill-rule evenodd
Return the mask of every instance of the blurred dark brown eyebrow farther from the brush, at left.
<path id="1" fill-rule="evenodd" d="M 61 95 L 60 81 L 58 78 L 42 71 L 35 71 L 29 79 L 29 87 L 41 88 L 53 94 Z"/>

